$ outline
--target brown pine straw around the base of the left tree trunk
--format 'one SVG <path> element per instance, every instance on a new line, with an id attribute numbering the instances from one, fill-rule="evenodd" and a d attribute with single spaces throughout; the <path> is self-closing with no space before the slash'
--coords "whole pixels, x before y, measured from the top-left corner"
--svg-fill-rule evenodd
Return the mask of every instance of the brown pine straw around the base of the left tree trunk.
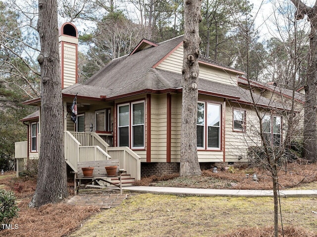
<path id="1" fill-rule="evenodd" d="M 12 230 L 2 230 L 0 236 L 62 237 L 80 226 L 89 216 L 100 211 L 96 206 L 73 206 L 65 203 L 29 208 L 28 204 L 35 187 L 35 177 L 15 178 L 14 172 L 0 177 L 0 188 L 14 191 L 20 209 L 19 216 L 11 222 Z M 14 225 L 17 225 L 16 229 Z"/>

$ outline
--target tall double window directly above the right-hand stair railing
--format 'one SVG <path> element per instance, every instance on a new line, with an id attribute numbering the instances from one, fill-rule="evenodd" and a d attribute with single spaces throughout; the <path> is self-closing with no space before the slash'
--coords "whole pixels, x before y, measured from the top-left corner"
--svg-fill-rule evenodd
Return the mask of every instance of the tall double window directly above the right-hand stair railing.
<path id="1" fill-rule="evenodd" d="M 145 147 L 145 103 L 137 101 L 118 105 L 118 145 L 133 149 Z"/>

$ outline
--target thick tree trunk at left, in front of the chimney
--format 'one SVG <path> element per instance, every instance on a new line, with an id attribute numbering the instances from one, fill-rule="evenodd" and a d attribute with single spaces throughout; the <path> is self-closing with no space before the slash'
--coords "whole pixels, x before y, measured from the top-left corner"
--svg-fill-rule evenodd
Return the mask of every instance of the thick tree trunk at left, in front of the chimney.
<path id="1" fill-rule="evenodd" d="M 39 0 L 41 53 L 41 144 L 39 176 L 31 207 L 68 196 L 63 149 L 63 113 L 58 52 L 57 0 Z"/>

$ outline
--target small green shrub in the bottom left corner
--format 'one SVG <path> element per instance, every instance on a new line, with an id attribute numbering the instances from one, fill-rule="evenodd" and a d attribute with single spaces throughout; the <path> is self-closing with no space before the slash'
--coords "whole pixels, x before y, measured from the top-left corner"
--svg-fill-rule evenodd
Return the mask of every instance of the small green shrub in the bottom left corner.
<path id="1" fill-rule="evenodd" d="M 12 191 L 0 190 L 0 230 L 3 225 L 10 224 L 11 220 L 18 215 L 19 208 L 15 202 Z"/>

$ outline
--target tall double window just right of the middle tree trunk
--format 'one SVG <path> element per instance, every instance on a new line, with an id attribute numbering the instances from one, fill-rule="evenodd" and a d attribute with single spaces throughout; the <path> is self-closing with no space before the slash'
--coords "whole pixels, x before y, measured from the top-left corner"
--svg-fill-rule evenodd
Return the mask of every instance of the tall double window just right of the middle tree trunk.
<path id="1" fill-rule="evenodd" d="M 197 147 L 203 149 L 220 149 L 220 137 L 221 105 L 198 102 Z"/>

